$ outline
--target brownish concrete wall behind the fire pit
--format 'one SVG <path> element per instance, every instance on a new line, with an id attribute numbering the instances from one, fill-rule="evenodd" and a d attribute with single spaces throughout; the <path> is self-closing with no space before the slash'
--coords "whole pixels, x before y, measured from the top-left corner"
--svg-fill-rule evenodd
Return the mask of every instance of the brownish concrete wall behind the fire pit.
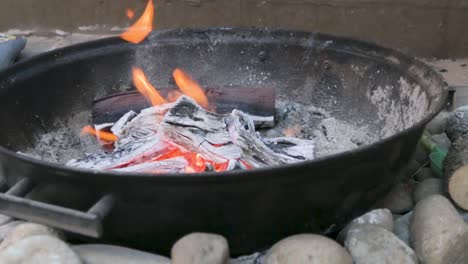
<path id="1" fill-rule="evenodd" d="M 468 0 L 155 0 L 156 28 L 270 26 L 353 36 L 417 56 L 468 56 Z M 0 0 L 0 31 L 130 24 L 146 0 Z M 96 26 L 97 25 L 97 26 Z M 116 29 L 116 28 L 114 28 Z"/>

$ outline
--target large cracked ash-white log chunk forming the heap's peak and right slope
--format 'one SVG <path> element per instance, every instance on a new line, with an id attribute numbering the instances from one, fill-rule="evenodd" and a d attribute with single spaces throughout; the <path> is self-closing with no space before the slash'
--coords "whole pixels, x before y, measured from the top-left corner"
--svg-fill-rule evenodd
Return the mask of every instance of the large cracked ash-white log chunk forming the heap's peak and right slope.
<path id="1" fill-rule="evenodd" d="M 179 99 L 168 111 L 159 133 L 179 148 L 197 152 L 215 163 L 240 159 L 260 168 L 297 162 L 268 148 L 245 113 L 238 110 L 230 115 L 210 113 L 188 97 Z"/>

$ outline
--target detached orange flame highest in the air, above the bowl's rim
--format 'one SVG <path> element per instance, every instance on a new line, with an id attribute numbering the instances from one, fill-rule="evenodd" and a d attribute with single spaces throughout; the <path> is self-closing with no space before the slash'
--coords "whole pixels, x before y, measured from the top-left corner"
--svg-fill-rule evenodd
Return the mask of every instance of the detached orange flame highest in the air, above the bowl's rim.
<path id="1" fill-rule="evenodd" d="M 143 15 L 128 28 L 127 31 L 120 35 L 120 38 L 137 44 L 142 42 L 153 30 L 153 19 L 154 19 L 154 4 L 153 0 L 148 1 L 145 12 Z"/>

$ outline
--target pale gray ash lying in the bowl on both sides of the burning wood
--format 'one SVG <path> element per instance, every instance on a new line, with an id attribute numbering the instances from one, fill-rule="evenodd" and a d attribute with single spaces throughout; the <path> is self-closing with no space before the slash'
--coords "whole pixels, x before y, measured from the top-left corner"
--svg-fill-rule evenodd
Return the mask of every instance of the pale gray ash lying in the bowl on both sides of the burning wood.
<path id="1" fill-rule="evenodd" d="M 276 126 L 259 130 L 261 136 L 265 138 L 288 136 L 314 140 L 315 156 L 319 158 L 349 151 L 378 139 L 378 135 L 371 134 L 370 129 L 333 118 L 330 113 L 314 106 L 279 99 L 276 108 Z M 54 129 L 51 128 L 50 132 L 39 135 L 35 145 L 21 150 L 21 153 L 61 164 L 80 157 L 83 153 L 104 155 L 105 152 L 93 137 L 80 135 L 82 127 L 90 124 L 90 116 L 90 113 L 85 111 L 71 116 L 65 122 L 60 119 Z"/>

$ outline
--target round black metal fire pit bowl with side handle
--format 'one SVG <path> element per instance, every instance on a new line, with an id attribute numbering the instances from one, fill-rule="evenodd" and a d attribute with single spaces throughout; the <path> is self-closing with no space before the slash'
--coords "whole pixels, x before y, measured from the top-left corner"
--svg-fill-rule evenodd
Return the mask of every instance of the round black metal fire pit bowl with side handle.
<path id="1" fill-rule="evenodd" d="M 173 70 L 183 68 L 202 87 L 274 89 L 275 126 L 259 130 L 262 138 L 310 140 L 314 157 L 157 175 L 65 166 L 98 151 L 79 132 L 92 123 L 93 102 L 134 90 L 132 67 L 145 69 L 155 87 L 175 87 Z M 386 194 L 446 96 L 439 75 L 398 52 L 255 28 L 159 31 L 138 45 L 90 42 L 20 63 L 0 80 L 0 159 L 5 175 L 26 179 L 0 195 L 0 211 L 158 252 L 192 231 L 225 235 L 233 254 L 294 233 L 333 233 Z M 87 202 L 69 209 L 18 197 L 36 184 L 73 186 Z"/>

